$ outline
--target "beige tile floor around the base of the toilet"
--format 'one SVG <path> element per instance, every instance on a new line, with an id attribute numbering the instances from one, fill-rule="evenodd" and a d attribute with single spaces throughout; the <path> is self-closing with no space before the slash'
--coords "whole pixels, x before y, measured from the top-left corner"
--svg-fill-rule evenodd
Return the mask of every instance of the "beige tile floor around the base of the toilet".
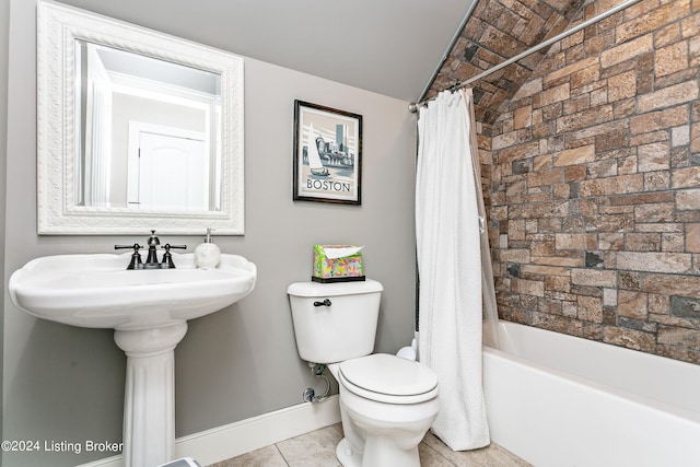
<path id="1" fill-rule="evenodd" d="M 222 460 L 210 467 L 339 467 L 336 445 L 340 423 Z M 419 445 L 422 467 L 529 467 L 525 460 L 491 443 L 477 451 L 454 452 L 430 432 Z M 387 466 L 399 467 L 399 466 Z"/>

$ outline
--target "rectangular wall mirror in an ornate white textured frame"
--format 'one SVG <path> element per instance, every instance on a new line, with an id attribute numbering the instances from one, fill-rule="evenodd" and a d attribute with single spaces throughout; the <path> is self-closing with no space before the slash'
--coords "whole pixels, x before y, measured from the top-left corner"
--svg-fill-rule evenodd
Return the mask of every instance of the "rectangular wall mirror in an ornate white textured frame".
<path id="1" fill-rule="evenodd" d="M 39 234 L 244 233 L 243 59 L 37 4 Z"/>

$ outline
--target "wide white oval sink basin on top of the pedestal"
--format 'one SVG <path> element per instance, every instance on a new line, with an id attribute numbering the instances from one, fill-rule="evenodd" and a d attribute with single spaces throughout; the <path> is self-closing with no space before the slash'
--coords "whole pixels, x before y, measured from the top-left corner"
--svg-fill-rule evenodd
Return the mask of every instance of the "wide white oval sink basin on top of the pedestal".
<path id="1" fill-rule="evenodd" d="M 10 296 L 18 307 L 39 318 L 129 330 L 167 326 L 217 312 L 255 287 L 255 265 L 237 255 L 221 255 L 215 269 L 197 269 L 194 255 L 173 254 L 176 269 L 126 270 L 130 256 L 34 259 L 10 278 Z"/>

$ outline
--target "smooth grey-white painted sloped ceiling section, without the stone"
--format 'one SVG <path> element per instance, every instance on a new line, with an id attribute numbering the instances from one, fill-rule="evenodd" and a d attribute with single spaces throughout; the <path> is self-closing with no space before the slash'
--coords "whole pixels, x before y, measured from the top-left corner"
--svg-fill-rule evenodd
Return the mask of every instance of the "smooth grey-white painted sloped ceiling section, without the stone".
<path id="1" fill-rule="evenodd" d="M 61 0 L 413 102 L 476 0 Z"/>

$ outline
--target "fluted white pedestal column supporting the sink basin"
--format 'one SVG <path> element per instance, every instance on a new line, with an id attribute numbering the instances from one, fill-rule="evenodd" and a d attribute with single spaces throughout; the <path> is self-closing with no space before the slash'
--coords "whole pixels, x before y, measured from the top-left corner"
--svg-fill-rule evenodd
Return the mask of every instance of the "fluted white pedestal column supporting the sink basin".
<path id="1" fill-rule="evenodd" d="M 175 346 L 186 332 L 186 322 L 114 332 L 115 342 L 127 354 L 126 467 L 155 467 L 175 456 Z"/>

